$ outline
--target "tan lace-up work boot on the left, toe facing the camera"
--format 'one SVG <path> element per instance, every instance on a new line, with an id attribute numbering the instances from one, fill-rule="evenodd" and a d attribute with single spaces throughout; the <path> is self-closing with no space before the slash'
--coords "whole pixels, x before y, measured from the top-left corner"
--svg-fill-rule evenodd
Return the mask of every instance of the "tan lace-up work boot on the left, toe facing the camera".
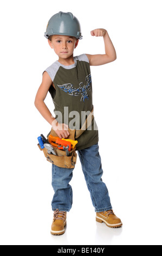
<path id="1" fill-rule="evenodd" d="M 59 211 L 58 209 L 54 211 L 54 220 L 50 231 L 51 235 L 64 234 L 64 227 L 66 227 L 66 215 L 66 211 Z"/>

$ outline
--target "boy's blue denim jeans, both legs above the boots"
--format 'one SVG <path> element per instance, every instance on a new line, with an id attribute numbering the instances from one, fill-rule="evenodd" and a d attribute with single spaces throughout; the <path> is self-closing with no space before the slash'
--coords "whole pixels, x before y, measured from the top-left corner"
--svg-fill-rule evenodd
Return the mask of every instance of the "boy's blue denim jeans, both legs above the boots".
<path id="1" fill-rule="evenodd" d="M 92 147 L 77 151 L 80 157 L 83 174 L 87 183 L 92 204 L 96 212 L 112 209 L 108 190 L 101 177 L 103 174 L 98 143 Z M 73 204 L 72 186 L 69 185 L 74 169 L 60 168 L 53 164 L 52 186 L 54 197 L 51 203 L 53 211 L 70 211 Z"/>

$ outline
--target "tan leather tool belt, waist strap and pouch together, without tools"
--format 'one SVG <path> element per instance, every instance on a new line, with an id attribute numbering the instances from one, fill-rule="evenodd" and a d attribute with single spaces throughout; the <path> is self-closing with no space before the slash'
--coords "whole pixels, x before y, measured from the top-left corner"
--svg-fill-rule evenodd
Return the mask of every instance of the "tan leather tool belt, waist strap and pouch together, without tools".
<path id="1" fill-rule="evenodd" d="M 81 127 L 80 130 L 70 130 L 69 129 L 70 135 L 69 135 L 68 139 L 72 139 L 73 141 L 75 141 L 75 139 L 79 138 L 82 135 L 82 133 L 85 130 L 87 130 L 88 127 L 91 125 L 93 119 L 94 119 L 94 115 L 93 115 L 93 109 L 92 109 L 92 112 L 88 115 L 85 123 L 83 124 L 83 126 Z M 51 129 L 49 135 L 58 137 L 56 132 L 53 129 Z M 49 137 L 49 135 L 48 135 L 48 137 Z M 59 148 L 56 148 L 56 147 L 55 147 L 56 155 L 49 154 L 47 148 L 41 149 L 40 144 L 38 144 L 38 148 L 41 151 L 43 151 L 44 156 L 46 157 L 48 162 L 53 163 L 56 166 L 61 167 L 61 168 L 69 168 L 69 169 L 75 168 L 76 159 L 77 159 L 76 146 L 74 149 L 69 151 L 69 156 L 67 156 L 66 151 L 60 150 Z"/>

